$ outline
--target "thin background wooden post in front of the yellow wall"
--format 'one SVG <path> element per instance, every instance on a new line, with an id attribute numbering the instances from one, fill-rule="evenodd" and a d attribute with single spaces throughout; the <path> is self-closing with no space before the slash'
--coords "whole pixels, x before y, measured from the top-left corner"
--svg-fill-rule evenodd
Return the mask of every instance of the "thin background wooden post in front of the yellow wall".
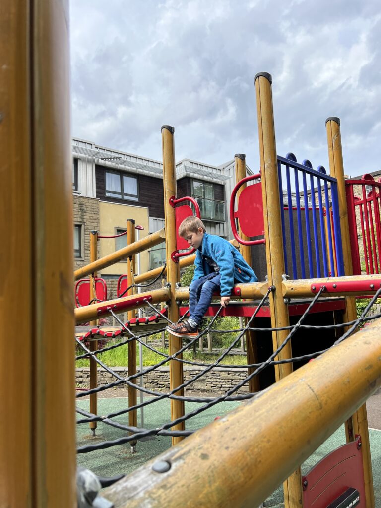
<path id="1" fill-rule="evenodd" d="M 127 245 L 132 245 L 135 242 L 135 220 L 127 219 Z M 127 284 L 130 287 L 134 283 L 134 257 L 130 256 L 127 260 Z M 129 289 L 127 296 L 132 296 L 135 293 L 134 288 Z M 135 317 L 135 311 L 129 310 L 128 320 L 131 321 Z M 136 374 L 136 340 L 129 342 L 129 376 Z M 137 378 L 133 379 L 133 383 L 137 384 Z M 129 386 L 129 407 L 136 406 L 137 404 L 137 390 Z M 129 425 L 133 427 L 138 426 L 138 412 L 136 409 L 129 412 Z M 137 441 L 131 441 L 131 451 L 135 453 Z"/>

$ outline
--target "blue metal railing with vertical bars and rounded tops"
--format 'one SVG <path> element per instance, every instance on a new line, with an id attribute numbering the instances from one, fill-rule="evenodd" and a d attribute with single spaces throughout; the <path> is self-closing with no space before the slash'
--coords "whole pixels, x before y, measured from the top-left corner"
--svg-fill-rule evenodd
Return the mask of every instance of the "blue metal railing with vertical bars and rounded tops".
<path id="1" fill-rule="evenodd" d="M 310 278 L 344 275 L 336 178 L 327 175 L 323 166 L 314 170 L 308 160 L 299 164 L 293 153 L 288 153 L 285 157 L 278 155 L 277 164 L 286 273 L 290 276 L 292 274 L 294 279 L 306 278 L 306 274 Z M 282 188 L 283 168 L 285 190 Z M 294 170 L 294 189 L 291 183 L 291 169 Z M 309 177 L 309 187 L 307 177 Z M 299 178 L 302 180 L 302 192 L 300 192 Z M 286 213 L 288 213 L 288 220 L 285 217 Z M 304 255 L 304 242 L 307 247 L 307 260 Z"/>

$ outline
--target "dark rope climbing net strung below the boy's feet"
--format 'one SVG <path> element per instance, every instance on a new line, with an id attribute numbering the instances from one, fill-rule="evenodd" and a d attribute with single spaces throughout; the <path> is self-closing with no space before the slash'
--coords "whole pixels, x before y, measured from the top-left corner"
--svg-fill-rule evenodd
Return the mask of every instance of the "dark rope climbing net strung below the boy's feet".
<path id="1" fill-rule="evenodd" d="M 104 333 L 100 330 L 96 331 L 93 329 L 89 333 L 84 334 L 83 336 L 81 336 L 79 338 L 76 337 L 75 340 L 78 344 L 79 350 L 83 350 L 83 353 L 78 355 L 76 357 L 76 360 L 82 359 L 82 358 L 93 358 L 94 361 L 97 362 L 99 367 L 101 367 L 104 370 L 106 370 L 107 372 L 109 372 L 111 374 L 111 376 L 113 378 L 115 378 L 115 380 L 112 383 L 99 386 L 98 388 L 94 388 L 92 390 L 80 391 L 79 393 L 76 394 L 76 397 L 78 399 L 88 396 L 88 395 L 91 395 L 91 394 L 94 394 L 94 393 L 100 393 L 100 392 L 110 390 L 112 388 L 115 388 L 118 386 L 123 386 L 123 385 L 128 386 L 128 387 L 133 387 L 134 389 L 136 389 L 136 390 L 138 390 L 138 391 L 142 392 L 143 394 L 150 397 L 147 400 L 145 400 L 144 402 L 137 403 L 134 406 L 126 407 L 122 410 L 119 410 L 117 412 L 112 412 L 112 413 L 105 415 L 105 416 L 94 415 L 82 408 L 77 407 L 76 408 L 77 414 L 80 415 L 80 417 L 81 417 L 77 420 L 77 424 L 87 424 L 88 425 L 90 422 L 102 422 L 105 425 L 110 425 L 114 428 L 117 428 L 117 429 L 120 429 L 121 431 L 123 431 L 123 435 L 117 439 L 98 442 L 98 443 L 92 443 L 92 444 L 86 444 L 85 446 L 81 446 L 81 447 L 77 448 L 78 454 L 85 454 L 85 453 L 89 453 L 89 452 L 92 452 L 95 450 L 104 450 L 104 449 L 107 449 L 110 447 L 118 446 L 123 443 L 136 442 L 138 440 L 142 440 L 142 439 L 148 438 L 150 436 L 188 436 L 188 435 L 192 434 L 193 432 L 195 432 L 195 430 L 190 430 L 190 429 L 189 430 L 173 430 L 172 427 L 181 423 L 181 422 L 185 422 L 185 421 L 189 420 L 190 418 L 193 418 L 193 417 L 201 414 L 203 411 L 205 411 L 205 410 L 209 409 L 210 407 L 212 407 L 216 404 L 219 404 L 221 402 L 243 401 L 243 400 L 258 396 L 260 394 L 260 392 L 245 393 L 245 394 L 237 394 L 237 392 L 244 385 L 246 385 L 252 377 L 259 375 L 264 369 L 268 368 L 270 365 L 281 364 L 281 363 L 290 363 L 290 362 L 296 363 L 296 362 L 308 361 L 312 358 L 316 358 L 317 356 L 320 356 L 323 353 L 325 353 L 326 351 L 328 351 L 328 349 L 330 347 L 335 347 L 338 343 L 342 342 L 348 336 L 353 334 L 355 332 L 355 330 L 359 327 L 359 325 L 361 325 L 362 323 L 365 323 L 366 321 L 369 321 L 369 320 L 377 319 L 377 317 L 381 316 L 381 314 L 367 316 L 371 306 L 373 305 L 373 303 L 376 301 L 376 299 L 381 294 L 381 288 L 380 288 L 374 294 L 372 299 L 369 301 L 369 304 L 366 306 L 366 308 L 364 309 L 364 311 L 362 312 L 362 314 L 358 317 L 358 319 L 356 321 L 351 321 L 351 322 L 342 323 L 342 324 L 333 324 L 333 325 L 305 325 L 305 324 L 303 324 L 306 317 L 310 314 L 311 309 L 314 307 L 316 302 L 321 298 L 322 294 L 324 293 L 325 287 L 323 286 L 320 289 L 320 291 L 315 295 L 315 297 L 311 300 L 307 309 L 305 310 L 305 312 L 299 318 L 298 322 L 295 325 L 288 326 L 288 327 L 282 327 L 282 328 L 253 327 L 252 324 L 255 321 L 255 318 L 256 318 L 258 312 L 265 304 L 268 303 L 268 299 L 269 299 L 269 295 L 270 295 L 271 291 L 273 291 L 272 287 L 269 288 L 266 295 L 263 297 L 261 302 L 258 304 L 258 307 L 256 308 L 255 312 L 251 315 L 250 318 L 247 319 L 247 323 L 243 328 L 239 328 L 237 330 L 224 330 L 224 331 L 214 329 L 213 324 L 215 323 L 217 317 L 219 316 L 219 314 L 221 312 L 221 309 L 223 308 L 221 306 L 221 307 L 219 307 L 217 313 L 211 319 L 210 323 L 205 328 L 205 330 L 202 331 L 199 334 L 199 336 L 197 336 L 191 340 L 185 339 L 186 343 L 180 348 L 179 351 L 177 351 L 176 353 L 174 353 L 172 355 L 168 355 L 162 351 L 157 350 L 157 348 L 155 348 L 153 345 L 148 344 L 147 341 L 143 340 L 144 338 L 147 338 L 150 335 L 163 332 L 165 330 L 165 328 L 162 328 L 160 330 L 155 330 L 154 332 L 137 334 L 136 330 L 133 331 L 131 329 L 131 327 L 128 326 L 128 324 L 124 324 L 122 321 L 120 321 L 118 316 L 116 314 L 114 314 L 112 311 L 111 311 L 112 316 L 115 318 L 117 323 L 120 325 L 120 329 L 117 332 L 107 334 L 107 333 Z M 146 303 L 146 305 L 150 306 L 154 312 L 157 312 L 157 309 L 153 305 L 151 305 L 149 302 L 145 302 L 145 303 Z M 168 319 L 168 317 L 166 317 L 166 315 L 164 313 L 156 314 L 156 315 L 157 315 L 157 317 L 160 315 L 160 317 L 162 319 L 166 320 L 168 323 L 171 323 L 171 321 Z M 184 319 L 184 317 L 185 317 L 185 315 L 182 316 L 181 319 Z M 298 330 L 313 330 L 313 329 L 314 330 L 334 330 L 334 329 L 340 329 L 340 328 L 344 328 L 344 327 L 350 327 L 350 328 L 343 335 L 341 335 L 341 337 L 339 337 L 333 343 L 333 345 L 331 345 L 330 347 L 328 347 L 322 351 L 316 351 L 316 352 L 313 352 L 313 353 L 310 353 L 307 355 L 288 358 L 288 359 L 275 360 L 275 358 L 283 350 L 285 345 L 290 342 L 290 340 L 292 339 L 292 337 L 296 334 L 296 332 Z M 246 365 L 223 364 L 224 368 L 230 368 L 230 369 L 251 368 L 251 369 L 253 369 L 247 376 L 245 376 L 243 379 L 241 379 L 239 383 L 237 383 L 235 386 L 232 386 L 225 394 L 217 396 L 217 397 L 190 397 L 190 396 L 180 396 L 177 394 L 180 390 L 189 387 L 189 385 L 194 383 L 196 380 L 200 379 L 202 376 L 205 376 L 209 371 L 211 371 L 215 367 L 221 366 L 221 362 L 232 352 L 233 348 L 240 342 L 241 337 L 249 330 L 252 330 L 252 331 L 255 331 L 258 333 L 261 333 L 261 332 L 268 333 L 268 332 L 273 332 L 273 331 L 284 330 L 284 331 L 288 331 L 289 333 L 288 333 L 287 337 L 285 337 L 283 342 L 279 345 L 279 347 L 267 358 L 266 361 L 263 361 L 260 363 L 246 364 Z M 226 347 L 225 350 L 223 350 L 219 354 L 218 358 L 214 362 L 204 363 L 204 362 L 199 362 L 199 361 L 194 361 L 194 360 L 185 360 L 183 358 L 179 358 L 183 352 L 185 352 L 187 350 L 193 350 L 194 344 L 197 341 L 199 341 L 201 337 L 203 337 L 205 334 L 207 334 L 209 332 L 221 333 L 221 334 L 224 334 L 224 333 L 225 334 L 226 333 L 231 333 L 231 334 L 233 333 L 234 334 L 234 338 L 231 341 L 231 343 L 229 344 L 229 346 Z M 85 340 L 88 340 L 88 339 L 90 339 L 90 340 L 91 339 L 96 340 L 99 338 L 111 339 L 111 338 L 115 338 L 115 337 L 120 337 L 122 340 L 120 340 L 120 342 L 118 342 L 118 343 L 113 343 L 111 345 L 105 346 L 102 349 L 97 350 L 97 351 L 90 351 L 89 348 L 85 344 Z M 151 352 L 156 353 L 157 355 L 160 355 L 161 357 L 163 357 L 163 359 L 161 361 L 157 362 L 155 365 L 151 365 L 146 368 L 143 368 L 142 366 L 140 366 L 140 371 L 138 371 L 130 376 L 122 377 L 117 372 L 115 372 L 111 367 L 105 365 L 105 363 L 98 358 L 98 355 L 100 353 L 110 351 L 114 348 L 123 347 L 132 341 L 136 341 L 136 342 L 140 343 L 142 345 L 142 347 L 145 347 L 148 350 L 150 350 Z M 134 383 L 134 381 L 137 380 L 139 377 L 144 376 L 145 374 L 157 369 L 158 367 L 167 365 L 168 362 L 170 362 L 170 361 L 181 362 L 181 363 L 187 364 L 187 365 L 196 365 L 196 366 L 202 367 L 202 369 L 196 375 L 191 376 L 189 379 L 187 379 L 185 382 L 183 382 L 180 386 L 174 388 L 173 390 L 168 391 L 167 393 L 149 390 L 147 388 L 144 388 L 143 386 L 139 386 Z M 198 407 L 197 409 L 195 409 L 193 411 L 188 412 L 184 416 L 181 416 L 181 417 L 179 417 L 175 420 L 172 420 L 172 421 L 168 421 L 168 422 L 164 423 L 163 425 L 161 425 L 160 427 L 157 427 L 154 429 L 139 428 L 139 427 L 124 425 L 124 424 L 117 422 L 115 420 L 116 417 L 119 417 L 121 415 L 126 415 L 132 410 L 136 410 L 141 407 L 155 404 L 156 402 L 158 402 L 160 400 L 164 400 L 164 399 L 175 399 L 175 400 L 181 400 L 181 401 L 186 401 L 186 402 L 197 402 L 198 404 L 200 404 L 200 407 Z M 124 435 L 125 432 L 129 432 L 130 435 Z"/>

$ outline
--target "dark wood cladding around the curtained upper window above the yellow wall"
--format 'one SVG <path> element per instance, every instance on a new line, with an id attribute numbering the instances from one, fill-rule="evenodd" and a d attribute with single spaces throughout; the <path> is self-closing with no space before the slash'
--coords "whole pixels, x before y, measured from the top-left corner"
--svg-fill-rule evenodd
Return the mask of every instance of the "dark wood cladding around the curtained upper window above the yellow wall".
<path id="1" fill-rule="evenodd" d="M 106 178 L 105 171 L 108 168 L 96 166 L 96 192 L 97 198 L 109 203 L 117 203 L 119 205 L 146 206 L 150 217 L 164 219 L 164 190 L 163 180 L 161 178 L 153 178 L 147 175 L 139 175 L 131 173 L 131 176 L 138 178 L 139 201 L 129 201 L 126 199 L 110 198 L 106 196 Z M 129 174 L 127 171 L 124 174 Z"/>

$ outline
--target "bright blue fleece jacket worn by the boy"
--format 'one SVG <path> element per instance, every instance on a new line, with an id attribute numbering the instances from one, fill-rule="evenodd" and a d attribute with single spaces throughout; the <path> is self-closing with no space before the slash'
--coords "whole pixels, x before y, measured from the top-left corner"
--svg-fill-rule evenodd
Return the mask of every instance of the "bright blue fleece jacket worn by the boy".
<path id="1" fill-rule="evenodd" d="M 238 282 L 256 282 L 256 274 L 242 258 L 239 250 L 228 240 L 216 235 L 204 233 L 203 241 L 196 251 L 194 279 L 199 279 L 213 272 L 205 258 L 211 258 L 218 266 L 221 275 L 221 296 L 229 296 L 234 280 Z"/>

